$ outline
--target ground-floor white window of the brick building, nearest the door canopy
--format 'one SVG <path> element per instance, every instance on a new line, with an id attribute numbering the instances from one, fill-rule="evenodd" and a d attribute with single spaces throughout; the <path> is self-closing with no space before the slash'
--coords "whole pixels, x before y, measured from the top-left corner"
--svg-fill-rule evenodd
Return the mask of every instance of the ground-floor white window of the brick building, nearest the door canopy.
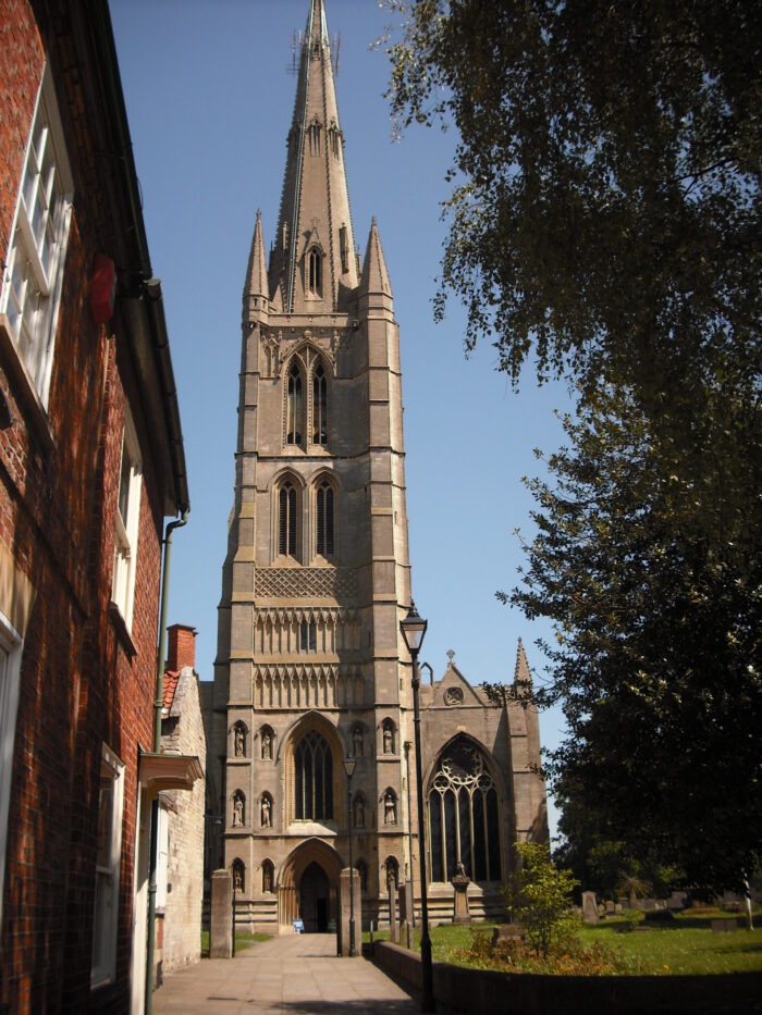
<path id="1" fill-rule="evenodd" d="M 111 813 L 103 814 L 103 790 L 109 785 Z M 106 744 L 101 748 L 99 792 L 90 988 L 112 983 L 116 977 L 124 765 Z"/>

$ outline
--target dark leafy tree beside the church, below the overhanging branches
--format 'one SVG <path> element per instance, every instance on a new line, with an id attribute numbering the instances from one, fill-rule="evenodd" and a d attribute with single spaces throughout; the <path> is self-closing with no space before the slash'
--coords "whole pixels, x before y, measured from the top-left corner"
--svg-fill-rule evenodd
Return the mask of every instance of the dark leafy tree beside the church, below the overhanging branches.
<path id="1" fill-rule="evenodd" d="M 697 455 L 726 424 L 715 403 Z M 554 626 L 537 696 L 562 703 L 569 734 L 549 772 L 630 856 L 741 890 L 762 842 L 758 416 L 747 454 L 703 485 L 671 471 L 672 451 L 619 392 L 564 428 L 551 480 L 529 483 L 538 534 L 523 584 L 501 594 Z"/>

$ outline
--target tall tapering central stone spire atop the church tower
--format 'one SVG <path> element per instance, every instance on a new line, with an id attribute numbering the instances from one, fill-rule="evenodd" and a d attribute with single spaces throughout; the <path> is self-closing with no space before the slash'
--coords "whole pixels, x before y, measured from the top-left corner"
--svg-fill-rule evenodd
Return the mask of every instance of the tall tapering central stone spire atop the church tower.
<path id="1" fill-rule="evenodd" d="M 335 313 L 358 278 L 323 0 L 309 0 L 287 148 L 270 296 L 286 313 Z"/>

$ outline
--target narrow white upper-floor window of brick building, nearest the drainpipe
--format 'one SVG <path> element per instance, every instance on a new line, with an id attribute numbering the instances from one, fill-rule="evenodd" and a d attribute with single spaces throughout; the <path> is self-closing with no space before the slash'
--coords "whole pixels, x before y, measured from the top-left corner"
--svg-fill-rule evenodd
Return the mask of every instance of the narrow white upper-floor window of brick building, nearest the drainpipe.
<path id="1" fill-rule="evenodd" d="M 128 472 L 125 474 L 125 466 Z M 123 482 L 126 481 L 126 491 Z M 135 426 L 128 411 L 124 416 L 122 455 L 119 462 L 119 493 L 115 518 L 114 570 L 111 598 L 119 608 L 127 631 L 132 631 L 135 603 L 135 569 L 140 527 L 143 461 Z M 122 495 L 126 492 L 126 517 L 122 517 Z"/>

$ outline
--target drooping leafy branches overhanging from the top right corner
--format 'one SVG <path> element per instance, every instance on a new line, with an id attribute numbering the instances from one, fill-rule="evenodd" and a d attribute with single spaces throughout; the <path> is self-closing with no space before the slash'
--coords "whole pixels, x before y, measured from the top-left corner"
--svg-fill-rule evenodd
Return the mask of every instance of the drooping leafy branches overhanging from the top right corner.
<path id="1" fill-rule="evenodd" d="M 628 386 L 665 430 L 759 381 L 762 66 L 746 0 L 386 0 L 401 126 L 454 125 L 435 313 L 514 382 Z M 700 405 L 699 405 L 700 410 Z"/>

